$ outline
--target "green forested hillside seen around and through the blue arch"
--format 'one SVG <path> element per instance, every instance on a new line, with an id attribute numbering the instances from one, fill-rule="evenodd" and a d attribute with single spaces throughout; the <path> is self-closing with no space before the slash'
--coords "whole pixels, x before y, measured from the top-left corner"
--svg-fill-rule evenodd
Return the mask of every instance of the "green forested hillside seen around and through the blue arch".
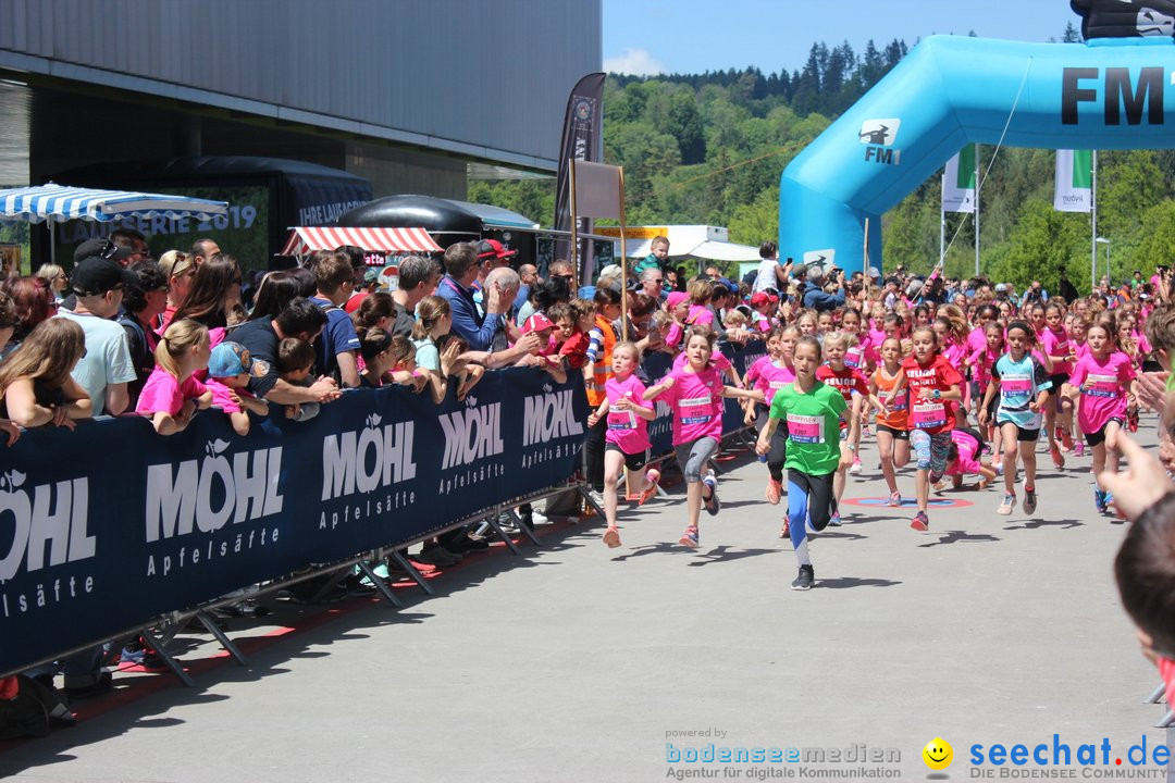
<path id="1" fill-rule="evenodd" d="M 1065 40 L 1077 40 L 1069 26 Z M 804 147 L 907 52 L 904 41 L 862 54 L 846 42 L 812 47 L 803 70 L 756 68 L 637 79 L 610 75 L 604 157 L 624 167 L 629 223 L 705 223 L 758 244 L 779 230 L 779 175 Z M 986 173 L 994 147 L 980 148 Z M 1000 149 L 980 194 L 981 269 L 1023 284 L 1055 285 L 1066 268 L 1088 284 L 1089 216 L 1054 212 L 1053 151 Z M 1099 234 L 1112 242 L 1115 279 L 1175 259 L 1175 150 L 1099 154 Z M 470 200 L 549 225 L 553 180 L 470 184 Z M 931 177 L 884 220 L 885 264 L 929 270 L 939 254 L 940 180 Z M 960 224 L 962 228 L 960 229 Z M 947 215 L 949 275 L 974 269 L 974 224 Z M 1100 245 L 1099 275 L 1104 270 Z"/>

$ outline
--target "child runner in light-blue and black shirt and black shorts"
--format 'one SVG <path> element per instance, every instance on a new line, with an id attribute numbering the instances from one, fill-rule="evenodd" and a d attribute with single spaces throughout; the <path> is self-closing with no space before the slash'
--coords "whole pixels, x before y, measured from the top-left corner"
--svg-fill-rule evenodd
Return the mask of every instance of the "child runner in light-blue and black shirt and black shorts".
<path id="1" fill-rule="evenodd" d="M 1008 352 L 992 367 L 992 379 L 983 394 L 980 424 L 988 419 L 988 404 L 1000 394 L 995 424 L 1003 437 L 1003 500 L 998 514 L 1008 515 L 1016 505 L 1016 453 L 1025 464 L 1025 513 L 1036 511 L 1036 439 L 1041 411 L 1048 401 L 1052 382 L 1048 371 L 1032 352 L 1036 332 L 1022 320 L 1008 324 Z"/>

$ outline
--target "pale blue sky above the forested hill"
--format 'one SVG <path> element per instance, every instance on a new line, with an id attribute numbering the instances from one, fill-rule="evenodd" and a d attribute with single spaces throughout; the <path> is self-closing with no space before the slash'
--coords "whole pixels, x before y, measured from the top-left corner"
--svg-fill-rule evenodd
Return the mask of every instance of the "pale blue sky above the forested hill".
<path id="1" fill-rule="evenodd" d="M 603 0 L 604 70 L 650 75 L 804 67 L 817 41 L 860 55 L 934 33 L 1043 42 L 1081 19 L 1068 0 Z"/>

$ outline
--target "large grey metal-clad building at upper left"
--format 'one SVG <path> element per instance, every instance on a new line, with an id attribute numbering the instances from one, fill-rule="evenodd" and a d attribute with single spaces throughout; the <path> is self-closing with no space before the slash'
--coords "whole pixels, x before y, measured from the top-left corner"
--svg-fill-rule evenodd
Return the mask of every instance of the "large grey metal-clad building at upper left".
<path id="1" fill-rule="evenodd" d="M 0 0 L 0 185 L 98 162 L 289 157 L 463 198 L 553 174 L 602 0 Z M 549 220 L 548 216 L 535 216 Z"/>

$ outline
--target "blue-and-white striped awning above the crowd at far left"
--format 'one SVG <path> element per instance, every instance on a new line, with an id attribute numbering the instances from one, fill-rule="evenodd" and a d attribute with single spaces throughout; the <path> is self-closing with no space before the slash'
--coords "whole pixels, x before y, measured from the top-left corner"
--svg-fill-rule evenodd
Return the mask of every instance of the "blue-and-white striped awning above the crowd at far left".
<path id="1" fill-rule="evenodd" d="M 207 221 L 228 212 L 228 203 L 166 196 L 157 193 L 95 190 L 48 183 L 0 190 L 0 221 L 58 223 L 68 220 L 107 223 L 125 217 L 197 217 Z"/>

